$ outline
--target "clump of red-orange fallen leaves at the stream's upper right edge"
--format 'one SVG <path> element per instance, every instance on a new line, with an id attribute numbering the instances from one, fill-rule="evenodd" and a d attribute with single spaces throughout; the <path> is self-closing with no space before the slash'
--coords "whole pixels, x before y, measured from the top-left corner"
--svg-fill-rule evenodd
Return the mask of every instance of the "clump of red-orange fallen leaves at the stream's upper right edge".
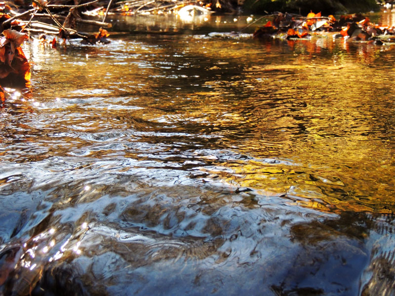
<path id="1" fill-rule="evenodd" d="M 267 38 L 284 36 L 286 38 L 306 38 L 313 32 L 338 32 L 335 37 L 353 38 L 355 40 L 371 40 L 375 44 L 383 44 L 379 36 L 395 35 L 394 27 L 381 27 L 372 24 L 369 18 L 361 14 L 342 15 L 337 20 L 333 15 L 321 16 L 321 13 L 310 12 L 307 17 L 288 13 L 278 13 L 272 21 L 257 29 L 253 37 Z"/>

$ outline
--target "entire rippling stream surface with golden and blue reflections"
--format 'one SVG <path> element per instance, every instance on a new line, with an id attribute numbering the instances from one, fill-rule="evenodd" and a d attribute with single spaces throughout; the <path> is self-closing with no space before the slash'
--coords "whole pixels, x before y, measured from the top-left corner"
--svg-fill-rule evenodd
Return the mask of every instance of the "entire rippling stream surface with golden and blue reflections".
<path id="1" fill-rule="evenodd" d="M 24 45 L 0 295 L 395 295 L 395 45 L 234 18 Z"/>

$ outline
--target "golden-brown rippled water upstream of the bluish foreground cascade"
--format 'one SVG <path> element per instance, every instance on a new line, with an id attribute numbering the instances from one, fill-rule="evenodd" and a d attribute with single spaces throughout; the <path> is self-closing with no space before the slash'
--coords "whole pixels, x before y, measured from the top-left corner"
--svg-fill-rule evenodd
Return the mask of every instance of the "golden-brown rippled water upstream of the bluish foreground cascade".
<path id="1" fill-rule="evenodd" d="M 41 135 L 44 155 L 83 150 L 101 142 L 103 133 L 111 134 L 106 141 L 123 142 L 130 127 L 202 134 L 216 137 L 207 142 L 212 147 L 292 159 L 285 167 L 221 162 L 231 168 L 220 174 L 225 183 L 321 210 L 394 210 L 387 108 L 394 98 L 393 46 L 331 35 L 263 43 L 220 35 L 40 46 L 32 47 L 33 93 L 51 107 L 46 114 L 33 103 L 43 117 L 31 126 L 69 135 L 61 147 Z M 48 84 L 49 77 L 56 78 Z M 84 155 L 109 152 L 139 157 L 124 148 L 91 148 Z"/>

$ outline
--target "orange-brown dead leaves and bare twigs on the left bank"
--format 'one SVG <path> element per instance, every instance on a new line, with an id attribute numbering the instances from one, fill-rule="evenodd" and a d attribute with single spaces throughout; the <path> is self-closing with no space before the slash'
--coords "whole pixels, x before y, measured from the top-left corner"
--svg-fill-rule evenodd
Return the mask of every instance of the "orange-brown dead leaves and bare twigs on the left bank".
<path id="1" fill-rule="evenodd" d="M 31 65 L 27 60 L 21 44 L 28 39 L 38 39 L 41 44 L 56 48 L 63 39 L 79 38 L 82 43 L 96 44 L 109 43 L 109 33 L 103 28 L 111 27 L 111 24 L 79 18 L 77 7 L 85 4 L 72 5 L 72 7 L 48 4 L 47 0 L 33 0 L 30 6 L 21 7 L 14 3 L 12 8 L 8 2 L 0 2 L 0 85 L 5 87 L 28 86 L 30 81 Z M 90 3 L 90 2 L 89 2 Z M 87 4 L 89 4 L 87 3 Z M 64 11 L 67 8 L 66 17 L 57 15 L 58 9 Z M 46 13 L 44 15 L 44 13 Z M 43 16 L 44 15 L 44 16 Z M 49 17 L 52 21 L 40 21 L 43 17 Z M 62 23 L 61 23 L 62 22 Z M 77 31 L 77 24 L 89 23 L 100 26 L 97 33 L 84 33 Z M 0 87 L 1 87 L 0 86 Z M 0 88 L 0 105 L 7 98 L 6 92 Z"/>

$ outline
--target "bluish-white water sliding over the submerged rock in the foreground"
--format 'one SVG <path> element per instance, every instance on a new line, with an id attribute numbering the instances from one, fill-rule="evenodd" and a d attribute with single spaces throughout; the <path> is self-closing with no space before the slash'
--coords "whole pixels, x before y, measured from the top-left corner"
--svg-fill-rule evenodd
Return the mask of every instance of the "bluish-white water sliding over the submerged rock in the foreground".
<path id="1" fill-rule="evenodd" d="M 56 215 L 35 227 L 25 254 L 11 258 L 39 263 L 32 273 L 17 262 L 23 291 L 29 292 L 29 279 L 38 283 L 33 295 L 40 289 L 114 295 L 131 287 L 142 295 L 150 285 L 199 295 L 214 288 L 222 295 L 252 289 L 289 296 L 357 295 L 360 286 L 365 295 L 393 289 L 392 216 L 320 213 L 247 188 L 205 186 L 140 188 L 128 195 L 103 187 L 112 197 L 73 204 L 76 224 L 82 224 L 75 227 L 59 222 L 69 208 L 55 205 Z M 45 247 L 48 255 L 41 253 Z M 9 250 L 0 259 L 12 256 Z"/>

